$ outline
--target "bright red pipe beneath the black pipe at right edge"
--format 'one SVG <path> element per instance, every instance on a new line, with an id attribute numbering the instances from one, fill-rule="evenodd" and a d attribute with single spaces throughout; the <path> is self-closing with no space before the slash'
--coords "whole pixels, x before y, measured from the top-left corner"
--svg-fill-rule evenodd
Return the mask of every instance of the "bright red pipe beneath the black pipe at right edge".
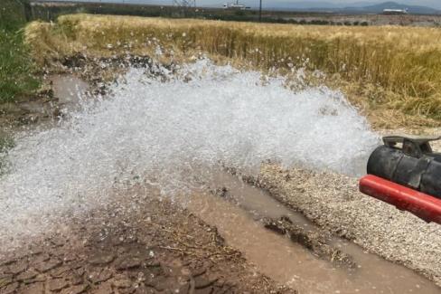
<path id="1" fill-rule="evenodd" d="M 413 213 L 427 223 L 441 224 L 441 199 L 375 175 L 365 175 L 360 179 L 360 192 Z"/>

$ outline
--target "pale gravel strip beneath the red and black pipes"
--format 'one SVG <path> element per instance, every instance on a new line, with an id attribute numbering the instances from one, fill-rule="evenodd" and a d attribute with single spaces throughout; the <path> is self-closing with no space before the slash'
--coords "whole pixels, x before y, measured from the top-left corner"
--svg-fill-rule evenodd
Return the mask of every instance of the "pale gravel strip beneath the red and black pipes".
<path id="1" fill-rule="evenodd" d="M 441 227 L 358 192 L 358 179 L 267 165 L 250 179 L 328 232 L 441 286 Z"/>

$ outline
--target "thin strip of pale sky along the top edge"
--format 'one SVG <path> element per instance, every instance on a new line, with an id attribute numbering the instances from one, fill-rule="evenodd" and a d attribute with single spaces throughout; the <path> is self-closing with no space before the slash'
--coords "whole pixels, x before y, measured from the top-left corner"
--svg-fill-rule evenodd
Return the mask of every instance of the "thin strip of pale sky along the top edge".
<path id="1" fill-rule="evenodd" d="M 65 0 L 68 1 L 68 0 Z M 75 0 L 70 0 L 75 1 Z M 91 1 L 91 2 L 99 2 L 99 0 L 82 0 L 82 1 Z M 143 4 L 155 4 L 155 5 L 170 5 L 173 3 L 173 0 L 102 0 L 103 2 L 123 2 L 126 3 L 143 3 Z M 224 3 L 235 2 L 236 0 L 196 0 L 198 6 L 222 6 Z M 441 0 L 263 0 L 263 4 L 266 7 L 271 6 L 289 6 L 296 2 L 302 3 L 331 3 L 333 5 L 353 5 L 354 3 L 362 3 L 363 5 L 374 5 L 383 2 L 397 2 L 403 5 L 426 5 L 429 7 L 433 7 L 436 9 L 441 9 Z M 244 5 L 249 5 L 252 7 L 258 6 L 258 0 L 239 0 L 239 3 Z"/>

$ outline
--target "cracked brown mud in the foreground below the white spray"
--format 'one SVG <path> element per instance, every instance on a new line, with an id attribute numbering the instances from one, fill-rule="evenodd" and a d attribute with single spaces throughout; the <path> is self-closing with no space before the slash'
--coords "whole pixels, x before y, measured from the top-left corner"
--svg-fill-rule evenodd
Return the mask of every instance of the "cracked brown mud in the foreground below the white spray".
<path id="1" fill-rule="evenodd" d="M 215 227 L 147 199 L 130 209 L 117 201 L 3 252 L 0 293 L 296 292 L 259 274 Z"/>

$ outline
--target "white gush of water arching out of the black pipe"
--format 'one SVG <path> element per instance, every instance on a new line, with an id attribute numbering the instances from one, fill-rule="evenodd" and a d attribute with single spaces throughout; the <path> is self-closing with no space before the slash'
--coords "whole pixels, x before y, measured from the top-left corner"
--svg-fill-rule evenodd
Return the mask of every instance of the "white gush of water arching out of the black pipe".
<path id="1" fill-rule="evenodd" d="M 338 91 L 284 82 L 207 60 L 128 71 L 105 99 L 17 139 L 0 178 L 0 246 L 106 204 L 127 182 L 182 194 L 213 166 L 256 171 L 266 160 L 358 173 L 378 141 L 365 119 Z"/>

